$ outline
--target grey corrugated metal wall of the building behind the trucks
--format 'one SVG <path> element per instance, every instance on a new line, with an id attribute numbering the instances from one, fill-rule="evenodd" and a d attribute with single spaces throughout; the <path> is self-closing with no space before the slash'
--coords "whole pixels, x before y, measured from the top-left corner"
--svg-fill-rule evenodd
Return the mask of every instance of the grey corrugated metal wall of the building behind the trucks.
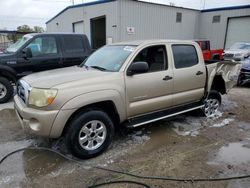
<path id="1" fill-rule="evenodd" d="M 177 12 L 182 13 L 181 23 L 176 23 Z M 84 32 L 91 41 L 90 19 L 103 15 L 106 16 L 106 37 L 109 41 L 206 38 L 211 40 L 211 48 L 215 49 L 224 47 L 228 17 L 250 15 L 250 9 L 201 13 L 192 9 L 117 0 L 70 8 L 51 20 L 47 31 L 72 32 L 74 22 L 84 21 Z M 212 23 L 214 15 L 221 15 L 219 23 Z M 134 34 L 128 34 L 127 27 L 133 27 Z"/>

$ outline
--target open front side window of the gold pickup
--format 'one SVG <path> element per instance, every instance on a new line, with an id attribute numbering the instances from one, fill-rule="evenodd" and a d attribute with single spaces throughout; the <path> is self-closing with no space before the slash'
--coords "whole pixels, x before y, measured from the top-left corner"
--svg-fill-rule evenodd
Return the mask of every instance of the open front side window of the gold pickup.
<path id="1" fill-rule="evenodd" d="M 143 49 L 135 57 L 133 62 L 144 61 L 148 63 L 149 71 L 156 72 L 167 69 L 167 54 L 164 45 Z"/>

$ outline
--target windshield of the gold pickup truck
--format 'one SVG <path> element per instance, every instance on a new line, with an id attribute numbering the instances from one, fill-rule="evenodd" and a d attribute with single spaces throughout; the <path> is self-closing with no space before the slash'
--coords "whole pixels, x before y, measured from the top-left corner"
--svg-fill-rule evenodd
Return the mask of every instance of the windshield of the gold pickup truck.
<path id="1" fill-rule="evenodd" d="M 81 66 L 118 72 L 134 49 L 135 46 L 105 46 L 93 53 Z"/>

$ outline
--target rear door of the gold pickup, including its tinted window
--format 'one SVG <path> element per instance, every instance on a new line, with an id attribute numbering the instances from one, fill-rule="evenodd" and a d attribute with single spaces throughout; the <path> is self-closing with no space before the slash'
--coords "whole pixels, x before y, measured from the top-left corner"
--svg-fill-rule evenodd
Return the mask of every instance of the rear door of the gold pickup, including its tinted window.
<path id="1" fill-rule="evenodd" d="M 197 46 L 198 47 L 198 46 Z M 174 106 L 199 101 L 204 96 L 206 67 L 192 44 L 172 44 Z"/>

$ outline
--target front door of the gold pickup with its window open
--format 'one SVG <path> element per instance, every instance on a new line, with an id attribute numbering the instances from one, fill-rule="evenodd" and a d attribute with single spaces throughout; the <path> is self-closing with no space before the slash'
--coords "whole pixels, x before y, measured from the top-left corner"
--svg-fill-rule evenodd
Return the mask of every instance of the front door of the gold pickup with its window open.
<path id="1" fill-rule="evenodd" d="M 149 71 L 126 76 L 127 114 L 129 117 L 172 106 L 173 72 L 168 65 L 165 45 L 146 47 L 132 63 L 147 62 Z"/>

